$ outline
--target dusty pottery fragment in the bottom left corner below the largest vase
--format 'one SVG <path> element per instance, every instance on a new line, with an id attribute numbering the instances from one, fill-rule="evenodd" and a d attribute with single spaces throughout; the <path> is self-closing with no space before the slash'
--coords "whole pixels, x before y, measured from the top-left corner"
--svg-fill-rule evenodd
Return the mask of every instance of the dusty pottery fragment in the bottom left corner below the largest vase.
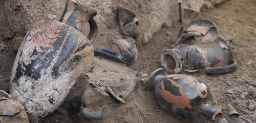
<path id="1" fill-rule="evenodd" d="M 13 100 L 11 95 L 3 90 L 0 90 L 0 109 L 0 122 L 29 122 L 24 107 L 18 101 Z"/>

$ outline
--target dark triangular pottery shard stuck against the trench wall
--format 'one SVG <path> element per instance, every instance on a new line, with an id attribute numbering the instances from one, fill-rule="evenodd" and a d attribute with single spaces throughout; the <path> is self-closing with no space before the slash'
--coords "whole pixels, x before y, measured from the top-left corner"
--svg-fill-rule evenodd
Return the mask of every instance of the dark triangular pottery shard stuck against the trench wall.
<path id="1" fill-rule="evenodd" d="M 123 7 L 119 7 L 118 9 L 118 19 L 121 27 L 127 23 L 130 23 L 135 16 L 136 15 L 128 9 Z"/>

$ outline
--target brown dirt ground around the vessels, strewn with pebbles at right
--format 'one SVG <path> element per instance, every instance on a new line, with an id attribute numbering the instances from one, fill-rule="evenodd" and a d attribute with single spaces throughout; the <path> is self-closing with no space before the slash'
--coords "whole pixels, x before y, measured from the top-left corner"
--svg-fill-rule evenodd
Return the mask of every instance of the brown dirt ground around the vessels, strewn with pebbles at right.
<path id="1" fill-rule="evenodd" d="M 162 25 L 161 31 L 153 35 L 146 45 L 138 47 L 138 59 L 129 68 L 140 73 L 150 75 L 151 72 L 162 68 L 160 53 L 174 44 L 182 26 L 187 27 L 194 19 L 203 18 L 214 22 L 221 37 L 228 40 L 233 48 L 234 59 L 238 61 L 236 71 L 223 75 L 205 75 L 204 70 L 197 73 L 187 73 L 200 77 L 210 85 L 215 94 L 216 109 L 221 109 L 226 116 L 227 105 L 231 104 L 241 116 L 256 122 L 256 110 L 248 109 L 248 100 L 256 101 L 256 1 L 232 0 L 208 9 L 204 12 L 183 11 L 183 24 L 178 20 L 172 25 Z M 215 15 L 215 16 L 212 16 Z M 177 15 L 178 16 L 178 15 Z M 171 18 L 170 18 L 171 19 Z M 7 46 L 11 46 L 11 42 Z M 1 46 L 1 45 L 0 45 Z M 0 81 L 6 83 L 1 87 L 9 91 L 9 74 L 15 52 L 12 49 L 1 51 Z M 153 92 L 144 91 L 146 81 L 138 80 L 136 90 L 130 103 L 111 109 L 105 119 L 100 121 L 80 120 L 80 122 L 181 122 L 164 111 L 157 103 Z M 242 92 L 248 94 L 241 97 Z M 64 113 L 63 113 L 64 112 Z M 65 111 L 59 108 L 52 115 L 41 119 L 40 122 L 70 121 Z M 244 122 L 236 117 L 228 118 L 229 122 Z M 212 122 L 210 119 L 199 116 L 194 122 Z"/>

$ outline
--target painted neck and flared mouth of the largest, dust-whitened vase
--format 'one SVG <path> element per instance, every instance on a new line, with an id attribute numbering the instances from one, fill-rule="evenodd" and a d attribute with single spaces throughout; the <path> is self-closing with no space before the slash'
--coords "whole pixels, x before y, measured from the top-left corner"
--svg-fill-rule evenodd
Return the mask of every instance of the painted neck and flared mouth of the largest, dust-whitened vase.
<path id="1" fill-rule="evenodd" d="M 68 0 L 59 21 L 83 32 L 86 23 L 96 14 L 96 10 L 78 1 Z"/>

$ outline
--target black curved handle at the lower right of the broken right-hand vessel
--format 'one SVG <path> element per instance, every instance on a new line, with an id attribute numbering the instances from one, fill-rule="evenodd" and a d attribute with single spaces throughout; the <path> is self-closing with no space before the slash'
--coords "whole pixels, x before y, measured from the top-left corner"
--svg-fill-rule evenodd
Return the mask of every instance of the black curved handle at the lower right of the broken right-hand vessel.
<path id="1" fill-rule="evenodd" d="M 238 63 L 234 59 L 229 59 L 228 60 L 228 66 L 224 67 L 206 67 L 204 69 L 205 74 L 225 74 L 229 72 L 233 72 L 238 68 Z"/>

